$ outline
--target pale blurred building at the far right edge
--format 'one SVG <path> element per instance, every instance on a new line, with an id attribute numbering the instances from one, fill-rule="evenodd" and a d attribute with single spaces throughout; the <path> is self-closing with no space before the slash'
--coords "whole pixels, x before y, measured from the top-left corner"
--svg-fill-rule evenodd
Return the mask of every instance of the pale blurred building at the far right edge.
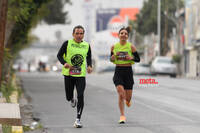
<path id="1" fill-rule="evenodd" d="M 185 75 L 200 77 L 200 3 L 185 0 Z"/>

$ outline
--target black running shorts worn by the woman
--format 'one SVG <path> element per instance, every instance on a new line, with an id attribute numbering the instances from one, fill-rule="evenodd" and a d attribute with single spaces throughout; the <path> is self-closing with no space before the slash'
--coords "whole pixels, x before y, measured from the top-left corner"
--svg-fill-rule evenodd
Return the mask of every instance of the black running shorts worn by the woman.
<path id="1" fill-rule="evenodd" d="M 133 89 L 133 70 L 132 66 L 116 66 L 113 77 L 115 86 L 122 85 L 125 90 Z"/>

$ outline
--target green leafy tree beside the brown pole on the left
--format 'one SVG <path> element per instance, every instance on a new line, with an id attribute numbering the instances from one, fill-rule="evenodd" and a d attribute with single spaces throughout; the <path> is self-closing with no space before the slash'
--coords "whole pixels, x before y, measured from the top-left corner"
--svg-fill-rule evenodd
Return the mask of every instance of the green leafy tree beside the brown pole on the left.
<path id="1" fill-rule="evenodd" d="M 0 0 L 1 1 L 1 0 Z M 12 81 L 12 63 L 18 52 L 32 41 L 30 30 L 36 26 L 45 15 L 47 6 L 53 0 L 8 0 L 6 38 L 2 65 L 2 81 L 0 88 L 6 93 L 10 90 Z M 63 0 L 70 2 L 70 0 Z M 62 17 L 62 16 L 61 16 Z M 59 20 L 54 23 L 60 23 Z M 2 62 L 1 62 L 2 63 Z M 0 91 L 2 91 L 0 89 Z"/>

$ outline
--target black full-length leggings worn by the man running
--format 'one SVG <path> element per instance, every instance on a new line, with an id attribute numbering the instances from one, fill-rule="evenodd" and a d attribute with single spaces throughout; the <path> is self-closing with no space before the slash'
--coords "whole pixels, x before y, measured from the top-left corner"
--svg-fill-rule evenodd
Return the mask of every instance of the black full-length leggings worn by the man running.
<path id="1" fill-rule="evenodd" d="M 84 91 L 86 86 L 85 77 L 64 76 L 65 94 L 67 101 L 71 101 L 74 96 L 74 87 L 77 90 L 77 118 L 80 119 L 84 107 Z"/>

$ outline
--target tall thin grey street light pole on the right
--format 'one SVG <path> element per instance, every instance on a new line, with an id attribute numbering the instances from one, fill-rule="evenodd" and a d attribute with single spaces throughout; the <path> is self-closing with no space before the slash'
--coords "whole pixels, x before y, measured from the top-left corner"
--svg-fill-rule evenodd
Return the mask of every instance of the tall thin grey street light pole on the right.
<path id="1" fill-rule="evenodd" d="M 161 27 L 160 27 L 160 0 L 158 0 L 158 24 L 157 24 L 157 34 L 158 34 L 158 56 L 160 56 L 160 33 L 161 33 Z"/>

